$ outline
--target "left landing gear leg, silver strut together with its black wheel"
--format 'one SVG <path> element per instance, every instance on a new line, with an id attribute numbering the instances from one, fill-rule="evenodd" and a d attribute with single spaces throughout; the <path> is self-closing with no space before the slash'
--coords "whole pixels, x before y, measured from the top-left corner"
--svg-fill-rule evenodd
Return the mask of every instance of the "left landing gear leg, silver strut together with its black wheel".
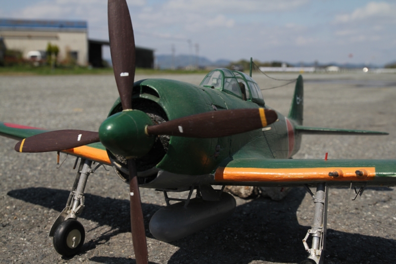
<path id="1" fill-rule="evenodd" d="M 49 231 L 49 236 L 53 237 L 56 252 L 65 257 L 77 254 L 84 244 L 85 230 L 77 221 L 77 217 L 84 209 L 85 185 L 88 176 L 93 173 L 91 165 L 91 160 L 81 159 L 66 207 L 58 215 Z"/>

